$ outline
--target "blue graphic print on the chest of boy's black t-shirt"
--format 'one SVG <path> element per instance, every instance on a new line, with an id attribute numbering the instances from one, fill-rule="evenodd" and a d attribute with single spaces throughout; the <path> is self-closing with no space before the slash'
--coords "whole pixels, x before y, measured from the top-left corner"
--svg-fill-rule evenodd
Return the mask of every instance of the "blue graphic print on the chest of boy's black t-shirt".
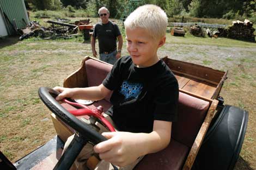
<path id="1" fill-rule="evenodd" d="M 120 93 L 125 96 L 125 100 L 138 98 L 142 91 L 142 84 L 140 83 L 129 83 L 124 81 L 121 85 Z"/>

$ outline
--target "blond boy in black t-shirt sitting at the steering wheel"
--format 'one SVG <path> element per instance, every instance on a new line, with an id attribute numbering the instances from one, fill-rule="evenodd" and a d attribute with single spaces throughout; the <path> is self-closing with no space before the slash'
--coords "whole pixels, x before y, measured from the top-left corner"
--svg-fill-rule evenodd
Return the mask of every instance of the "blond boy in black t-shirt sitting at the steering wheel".
<path id="1" fill-rule="evenodd" d="M 113 106 L 106 114 L 119 131 L 102 133 L 108 140 L 94 146 L 103 160 L 97 169 L 113 169 L 112 165 L 132 169 L 144 155 L 166 148 L 172 122 L 178 117 L 177 80 L 157 56 L 166 41 L 166 13 L 156 5 L 143 5 L 126 18 L 124 25 L 130 56 L 118 59 L 101 85 L 54 88 L 61 92 L 57 100 L 100 100 L 113 91 Z"/>

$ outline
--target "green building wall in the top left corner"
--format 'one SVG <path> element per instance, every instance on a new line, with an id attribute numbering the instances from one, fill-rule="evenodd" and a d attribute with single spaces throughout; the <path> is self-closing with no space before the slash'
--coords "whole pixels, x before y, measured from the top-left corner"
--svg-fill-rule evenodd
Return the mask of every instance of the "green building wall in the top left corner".
<path id="1" fill-rule="evenodd" d="M 3 14 L 5 13 L 5 15 L 7 15 L 14 27 L 16 24 L 17 28 L 22 29 L 29 24 L 24 0 L 1 0 L 0 6 Z M 6 18 L 5 21 L 7 22 L 10 34 L 15 33 L 13 26 L 11 26 Z"/>

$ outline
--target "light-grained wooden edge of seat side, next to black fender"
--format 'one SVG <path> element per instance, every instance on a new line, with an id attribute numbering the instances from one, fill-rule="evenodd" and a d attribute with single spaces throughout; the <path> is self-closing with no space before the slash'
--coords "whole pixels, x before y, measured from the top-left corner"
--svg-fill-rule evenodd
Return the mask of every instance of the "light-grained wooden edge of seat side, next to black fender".
<path id="1" fill-rule="evenodd" d="M 183 170 L 190 170 L 192 168 L 194 160 L 196 159 L 197 153 L 203 143 L 204 136 L 209 128 L 212 118 L 214 117 L 217 105 L 218 105 L 218 100 L 213 100 L 210 105 L 209 111 L 204 119 L 204 122 L 199 130 L 199 133 L 197 134 L 196 140 L 193 143 L 190 153 L 187 156 L 185 165 L 182 168 Z"/>

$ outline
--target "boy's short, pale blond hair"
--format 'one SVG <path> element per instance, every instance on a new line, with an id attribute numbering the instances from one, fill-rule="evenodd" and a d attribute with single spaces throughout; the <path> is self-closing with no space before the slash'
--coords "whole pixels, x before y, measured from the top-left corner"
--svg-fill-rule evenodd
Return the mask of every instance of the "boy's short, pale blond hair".
<path id="1" fill-rule="evenodd" d="M 154 39 L 161 39 L 166 35 L 168 18 L 166 13 L 156 5 L 143 5 L 133 11 L 125 20 L 126 28 L 136 27 L 148 30 Z"/>

